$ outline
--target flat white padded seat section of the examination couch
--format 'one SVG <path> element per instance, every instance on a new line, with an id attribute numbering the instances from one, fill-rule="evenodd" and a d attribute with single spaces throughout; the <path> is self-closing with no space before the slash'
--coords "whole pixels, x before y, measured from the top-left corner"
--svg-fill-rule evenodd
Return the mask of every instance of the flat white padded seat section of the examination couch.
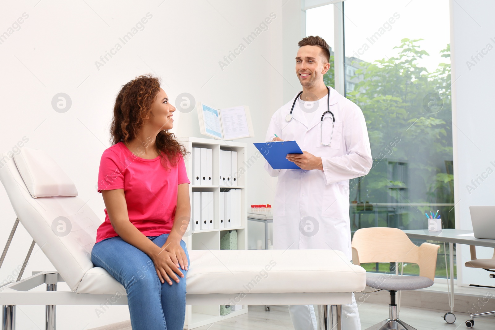
<path id="1" fill-rule="evenodd" d="M 358 292 L 366 271 L 336 250 L 189 250 L 187 293 Z M 103 268 L 84 275 L 78 293 L 125 294 Z"/>

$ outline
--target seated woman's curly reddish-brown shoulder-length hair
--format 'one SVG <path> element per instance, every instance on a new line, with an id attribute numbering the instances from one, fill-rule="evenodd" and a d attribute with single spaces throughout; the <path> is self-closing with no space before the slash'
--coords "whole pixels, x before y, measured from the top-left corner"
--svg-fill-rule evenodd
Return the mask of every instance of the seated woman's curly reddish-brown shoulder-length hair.
<path id="1" fill-rule="evenodd" d="M 159 78 L 150 74 L 136 77 L 122 86 L 113 107 L 110 128 L 112 145 L 121 141 L 127 143 L 136 138 L 145 123 L 145 118 L 151 113 L 151 104 L 159 90 Z M 164 167 L 166 167 L 163 162 L 164 154 L 170 163 L 176 163 L 179 160 L 179 154 L 185 156 L 188 152 L 184 145 L 175 140 L 175 135 L 167 130 L 160 131 L 156 136 L 155 150 L 160 155 L 160 161 Z"/>

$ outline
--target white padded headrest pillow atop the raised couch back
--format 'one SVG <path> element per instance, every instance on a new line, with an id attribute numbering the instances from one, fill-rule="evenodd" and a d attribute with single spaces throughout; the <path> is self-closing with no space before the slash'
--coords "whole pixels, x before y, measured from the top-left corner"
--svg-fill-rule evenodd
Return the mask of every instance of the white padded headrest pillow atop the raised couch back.
<path id="1" fill-rule="evenodd" d="M 77 196 L 72 180 L 45 151 L 24 147 L 14 161 L 33 198 Z"/>

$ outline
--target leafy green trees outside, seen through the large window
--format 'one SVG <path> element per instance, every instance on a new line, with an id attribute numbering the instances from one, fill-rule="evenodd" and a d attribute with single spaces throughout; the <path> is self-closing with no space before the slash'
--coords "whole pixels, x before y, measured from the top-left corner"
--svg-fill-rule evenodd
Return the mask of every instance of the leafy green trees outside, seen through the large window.
<path id="1" fill-rule="evenodd" d="M 370 203 L 454 203 L 450 63 L 439 63 L 433 72 L 419 66 L 418 59 L 429 56 L 421 49 L 422 40 L 402 39 L 394 47 L 397 56 L 372 63 L 355 59 L 352 64 L 358 68 L 355 87 L 346 97 L 363 111 L 374 162 L 368 175 L 350 180 L 351 202 L 360 196 Z M 449 59 L 450 45 L 440 53 Z M 324 81 L 333 86 L 334 78 L 331 66 Z M 394 164 L 405 164 L 402 177 L 391 177 Z M 426 229 L 425 212 L 437 209 L 444 228 L 454 228 L 453 206 L 350 209 L 351 231 L 377 225 Z M 443 259 L 438 261 L 440 274 L 446 271 Z M 416 268 L 406 266 L 404 273 L 417 274 Z"/>

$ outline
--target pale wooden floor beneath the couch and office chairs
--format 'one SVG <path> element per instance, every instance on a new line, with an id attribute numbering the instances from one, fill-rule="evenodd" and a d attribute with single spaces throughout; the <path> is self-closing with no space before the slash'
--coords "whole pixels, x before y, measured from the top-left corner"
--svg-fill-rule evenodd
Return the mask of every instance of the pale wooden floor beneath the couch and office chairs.
<path id="1" fill-rule="evenodd" d="M 418 330 L 464 330 L 469 320 L 468 314 L 455 313 L 454 324 L 447 324 L 442 316 L 446 311 L 401 307 L 399 318 Z M 364 303 L 359 305 L 361 328 L 364 330 L 388 317 L 388 306 L 378 303 Z M 495 329 L 495 317 L 478 318 L 475 320 L 474 330 Z M 197 330 L 294 330 L 287 306 L 271 306 L 270 312 L 265 312 L 263 306 L 249 305 L 247 314 L 196 328 Z M 131 330 L 130 321 L 116 323 L 93 330 Z"/>

